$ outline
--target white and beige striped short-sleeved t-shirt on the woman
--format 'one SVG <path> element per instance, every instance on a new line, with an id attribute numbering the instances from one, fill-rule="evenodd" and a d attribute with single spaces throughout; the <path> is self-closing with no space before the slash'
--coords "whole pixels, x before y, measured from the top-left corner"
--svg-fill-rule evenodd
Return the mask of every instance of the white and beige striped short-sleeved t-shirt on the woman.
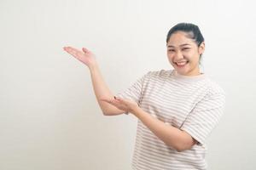
<path id="1" fill-rule="evenodd" d="M 199 142 L 178 152 L 138 120 L 133 169 L 207 169 L 205 142 L 224 109 L 225 94 L 218 84 L 205 74 L 186 77 L 175 70 L 148 71 L 117 96 L 137 101 L 143 111 L 186 131 Z"/>

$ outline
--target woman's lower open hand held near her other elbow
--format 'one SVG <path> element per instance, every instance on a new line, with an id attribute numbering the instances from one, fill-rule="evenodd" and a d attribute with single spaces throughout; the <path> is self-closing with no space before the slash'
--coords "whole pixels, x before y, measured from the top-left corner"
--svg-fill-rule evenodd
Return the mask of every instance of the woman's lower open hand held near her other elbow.
<path id="1" fill-rule="evenodd" d="M 108 102 L 109 104 L 117 107 L 119 110 L 125 111 L 126 114 L 128 112 L 134 113 L 134 111 L 139 108 L 137 103 L 131 99 L 121 99 L 119 97 L 114 97 L 114 99 L 101 99 L 102 101 Z"/>

